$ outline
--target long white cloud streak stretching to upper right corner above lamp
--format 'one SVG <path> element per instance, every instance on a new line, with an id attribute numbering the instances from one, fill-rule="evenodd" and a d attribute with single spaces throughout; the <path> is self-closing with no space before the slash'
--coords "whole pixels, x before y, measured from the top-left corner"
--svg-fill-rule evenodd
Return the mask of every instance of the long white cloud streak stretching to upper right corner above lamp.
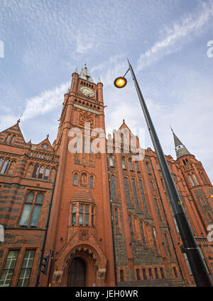
<path id="1" fill-rule="evenodd" d="M 182 44 L 189 40 L 191 34 L 197 34 L 213 16 L 212 2 L 200 4 L 202 11 L 190 14 L 181 22 L 173 24 L 173 28 L 165 28 L 166 35 L 155 43 L 150 49 L 138 59 L 137 70 L 143 69 L 153 62 L 158 61 L 165 55 L 180 50 Z M 206 28 L 206 27 L 205 27 Z"/>

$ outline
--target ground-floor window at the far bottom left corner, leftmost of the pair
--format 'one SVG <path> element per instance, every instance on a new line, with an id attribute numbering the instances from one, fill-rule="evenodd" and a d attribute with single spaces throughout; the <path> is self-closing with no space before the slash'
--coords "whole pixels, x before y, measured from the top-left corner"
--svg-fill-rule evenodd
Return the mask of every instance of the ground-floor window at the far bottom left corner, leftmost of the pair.
<path id="1" fill-rule="evenodd" d="M 4 264 L 4 269 L 1 274 L 0 287 L 6 287 L 11 285 L 11 279 L 13 277 L 13 271 L 16 266 L 18 258 L 18 251 L 9 251 Z"/>

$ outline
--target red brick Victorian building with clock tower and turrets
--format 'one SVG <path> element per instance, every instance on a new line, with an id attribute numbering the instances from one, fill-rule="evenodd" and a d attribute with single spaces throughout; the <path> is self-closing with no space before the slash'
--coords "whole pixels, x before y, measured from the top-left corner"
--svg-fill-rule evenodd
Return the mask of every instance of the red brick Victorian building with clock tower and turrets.
<path id="1" fill-rule="evenodd" d="M 53 145 L 26 142 L 19 120 L 0 133 L 0 286 L 195 285 L 156 154 L 132 159 L 125 121 L 121 143 L 106 139 L 102 86 L 75 70 Z M 173 135 L 177 159 L 166 159 L 213 280 L 212 183 Z"/>

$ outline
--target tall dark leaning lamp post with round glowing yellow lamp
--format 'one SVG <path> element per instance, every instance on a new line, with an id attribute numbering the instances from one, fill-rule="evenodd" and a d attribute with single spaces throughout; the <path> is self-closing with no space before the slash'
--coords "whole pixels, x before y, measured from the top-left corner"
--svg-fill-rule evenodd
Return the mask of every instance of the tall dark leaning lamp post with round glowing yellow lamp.
<path id="1" fill-rule="evenodd" d="M 129 62 L 129 59 L 128 59 L 128 62 Z M 182 207 L 180 196 L 178 195 L 177 188 L 173 181 L 173 176 L 170 173 L 168 163 L 165 159 L 165 155 L 163 154 L 163 149 L 160 145 L 160 141 L 158 140 L 158 135 L 155 132 L 155 127 L 151 120 L 151 116 L 148 112 L 148 108 L 143 99 L 141 89 L 138 86 L 138 81 L 133 72 L 133 68 L 131 67 L 130 62 L 129 62 L 129 69 L 127 70 L 127 72 L 129 72 L 129 70 L 131 71 L 131 76 L 132 76 L 133 82 L 136 86 L 136 91 L 138 93 L 138 98 L 141 103 L 141 108 L 143 110 L 143 114 L 146 119 L 148 131 L 151 135 L 153 147 L 154 147 L 155 153 L 157 154 L 157 157 L 158 157 L 160 169 L 163 174 L 165 185 L 168 190 L 169 197 L 170 197 L 170 203 L 172 205 L 175 220 L 177 222 L 178 229 L 180 232 L 180 237 L 182 239 L 184 252 L 187 254 L 187 259 L 190 263 L 192 276 L 194 277 L 195 283 L 197 286 L 200 286 L 200 287 L 212 286 L 211 280 L 207 273 L 207 269 L 204 266 L 204 262 L 202 260 L 201 254 L 200 254 L 200 250 L 198 249 L 197 243 L 195 241 L 195 237 L 192 233 L 192 229 L 190 228 L 190 224 L 187 220 L 187 216 L 185 215 L 185 211 Z M 127 74 L 127 72 L 126 72 L 126 74 Z M 114 85 L 117 88 L 123 88 L 124 86 L 126 86 L 126 79 L 125 79 L 126 74 L 123 77 L 115 79 Z"/>

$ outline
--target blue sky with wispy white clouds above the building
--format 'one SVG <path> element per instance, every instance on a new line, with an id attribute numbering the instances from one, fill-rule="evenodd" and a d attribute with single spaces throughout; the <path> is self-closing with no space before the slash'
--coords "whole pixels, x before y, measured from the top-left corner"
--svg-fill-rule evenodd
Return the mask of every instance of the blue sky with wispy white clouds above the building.
<path id="1" fill-rule="evenodd" d="M 72 73 L 87 62 L 104 85 L 107 132 L 123 119 L 145 129 L 133 86 L 113 85 L 127 57 L 165 154 L 175 134 L 213 182 L 213 1 L 0 0 L 0 131 L 15 124 L 26 142 L 56 138 Z"/>

